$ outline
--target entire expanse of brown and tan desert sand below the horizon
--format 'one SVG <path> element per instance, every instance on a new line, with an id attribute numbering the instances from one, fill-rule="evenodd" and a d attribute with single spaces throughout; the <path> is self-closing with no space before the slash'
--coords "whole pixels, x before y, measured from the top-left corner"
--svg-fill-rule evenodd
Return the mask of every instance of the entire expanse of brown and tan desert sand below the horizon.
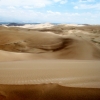
<path id="1" fill-rule="evenodd" d="M 0 100 L 100 100 L 100 26 L 0 26 Z"/>

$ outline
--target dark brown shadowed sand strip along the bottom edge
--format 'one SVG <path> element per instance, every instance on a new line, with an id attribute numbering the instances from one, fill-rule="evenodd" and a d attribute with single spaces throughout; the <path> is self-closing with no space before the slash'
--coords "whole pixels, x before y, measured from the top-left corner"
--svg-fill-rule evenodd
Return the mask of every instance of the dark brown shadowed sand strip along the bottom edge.
<path id="1" fill-rule="evenodd" d="M 58 84 L 1 85 L 0 100 L 100 100 L 100 89 L 73 88 Z"/>

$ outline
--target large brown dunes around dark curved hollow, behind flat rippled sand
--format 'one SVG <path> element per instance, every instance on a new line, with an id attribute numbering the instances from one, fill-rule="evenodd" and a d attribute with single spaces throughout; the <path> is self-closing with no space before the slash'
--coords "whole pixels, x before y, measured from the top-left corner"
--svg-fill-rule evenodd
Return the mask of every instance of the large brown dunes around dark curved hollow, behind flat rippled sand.
<path id="1" fill-rule="evenodd" d="M 58 35 L 53 32 L 38 32 L 34 30 L 21 31 L 21 29 L 18 29 L 18 31 L 16 31 L 16 29 L 13 28 L 1 28 L 0 49 L 11 52 L 21 52 L 10 53 L 12 55 L 10 58 L 15 58 L 14 60 L 35 58 L 74 60 L 100 59 L 99 47 L 87 39 L 75 35 Z M 1 54 L 2 52 L 3 51 L 1 51 Z M 28 54 L 23 54 L 23 52 Z M 2 57 L 0 59 L 2 59 Z M 4 57 L 6 57 L 6 54 Z"/>

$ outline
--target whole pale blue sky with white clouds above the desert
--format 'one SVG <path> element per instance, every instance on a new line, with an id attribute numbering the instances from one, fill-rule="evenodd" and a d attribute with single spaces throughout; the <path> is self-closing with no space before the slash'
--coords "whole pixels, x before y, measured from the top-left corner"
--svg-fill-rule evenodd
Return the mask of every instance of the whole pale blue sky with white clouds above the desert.
<path id="1" fill-rule="evenodd" d="M 0 22 L 100 24 L 100 0 L 0 0 Z"/>

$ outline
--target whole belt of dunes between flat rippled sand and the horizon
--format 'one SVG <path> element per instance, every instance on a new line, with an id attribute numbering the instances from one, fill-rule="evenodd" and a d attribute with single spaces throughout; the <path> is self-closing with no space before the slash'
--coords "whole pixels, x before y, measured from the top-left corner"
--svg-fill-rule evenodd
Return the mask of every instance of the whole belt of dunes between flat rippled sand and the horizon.
<path id="1" fill-rule="evenodd" d="M 55 25 L 51 29 L 42 28 L 41 30 L 0 27 L 0 49 L 5 50 L 5 53 L 8 53 L 6 51 L 11 51 L 13 56 L 11 58 L 16 58 L 17 60 L 22 58 L 22 60 L 35 58 L 99 60 L 99 42 L 93 42 L 95 37 L 99 38 L 99 33 L 83 31 L 83 29 L 91 31 L 90 27 L 97 30 L 99 26 L 81 26 L 78 27 L 80 30 L 77 29 L 76 25 L 74 25 L 75 27 L 72 26 L 72 28 L 70 26 Z M 60 33 L 56 33 L 59 30 Z M 94 40 L 91 40 L 91 37 Z M 13 52 L 16 52 L 19 56 L 16 56 L 16 53 Z M 6 57 L 6 55 L 3 56 Z"/>

